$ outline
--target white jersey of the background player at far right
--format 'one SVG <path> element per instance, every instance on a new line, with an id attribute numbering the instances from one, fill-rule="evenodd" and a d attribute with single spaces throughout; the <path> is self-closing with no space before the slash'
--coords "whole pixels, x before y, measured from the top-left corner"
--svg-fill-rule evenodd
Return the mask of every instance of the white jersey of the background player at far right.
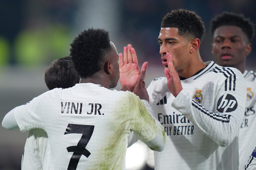
<path id="1" fill-rule="evenodd" d="M 247 88 L 247 99 L 244 120 L 239 132 L 239 169 L 243 169 L 247 163 L 256 141 L 256 73 L 245 70 L 243 75 Z"/>

